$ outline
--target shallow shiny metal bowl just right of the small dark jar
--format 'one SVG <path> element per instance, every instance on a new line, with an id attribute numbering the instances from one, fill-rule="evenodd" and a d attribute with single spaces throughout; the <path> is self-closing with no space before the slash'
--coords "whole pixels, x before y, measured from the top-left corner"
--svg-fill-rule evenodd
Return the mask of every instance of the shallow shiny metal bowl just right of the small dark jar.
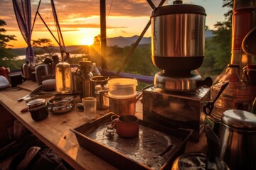
<path id="1" fill-rule="evenodd" d="M 53 98 L 48 101 L 48 111 L 51 113 L 66 113 L 74 108 L 73 99 Z"/>

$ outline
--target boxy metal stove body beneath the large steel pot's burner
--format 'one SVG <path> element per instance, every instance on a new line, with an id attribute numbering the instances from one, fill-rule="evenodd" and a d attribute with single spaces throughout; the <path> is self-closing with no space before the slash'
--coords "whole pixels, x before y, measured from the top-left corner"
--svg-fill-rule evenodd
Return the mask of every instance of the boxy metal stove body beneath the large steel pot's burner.
<path id="1" fill-rule="evenodd" d="M 167 128 L 193 129 L 198 141 L 205 124 L 203 105 L 210 99 L 208 87 L 193 92 L 164 91 L 154 85 L 143 89 L 143 120 Z"/>

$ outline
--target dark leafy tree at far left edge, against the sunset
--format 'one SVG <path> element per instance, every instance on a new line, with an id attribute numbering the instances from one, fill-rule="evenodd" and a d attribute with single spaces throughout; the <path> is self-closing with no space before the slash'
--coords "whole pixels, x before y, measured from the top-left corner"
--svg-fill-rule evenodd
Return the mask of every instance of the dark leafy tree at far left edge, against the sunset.
<path id="1" fill-rule="evenodd" d="M 6 29 L 2 28 L 6 26 L 6 22 L 0 19 L 0 60 L 9 60 L 11 58 L 17 57 L 14 53 L 10 51 L 8 47 L 12 47 L 8 42 L 11 40 L 16 40 L 15 35 L 6 35 Z"/>

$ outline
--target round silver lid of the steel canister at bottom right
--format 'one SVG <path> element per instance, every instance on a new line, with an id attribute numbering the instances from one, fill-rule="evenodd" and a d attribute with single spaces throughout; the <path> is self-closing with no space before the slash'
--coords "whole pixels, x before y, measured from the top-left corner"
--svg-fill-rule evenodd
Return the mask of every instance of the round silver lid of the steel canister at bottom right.
<path id="1" fill-rule="evenodd" d="M 237 109 L 225 111 L 221 122 L 237 130 L 256 130 L 256 115 L 247 111 Z"/>

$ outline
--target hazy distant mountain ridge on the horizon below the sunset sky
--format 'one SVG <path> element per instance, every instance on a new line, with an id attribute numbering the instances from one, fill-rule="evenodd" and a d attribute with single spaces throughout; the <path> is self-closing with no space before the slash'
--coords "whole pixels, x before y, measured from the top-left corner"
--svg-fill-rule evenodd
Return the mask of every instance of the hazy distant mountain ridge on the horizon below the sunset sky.
<path id="1" fill-rule="evenodd" d="M 206 39 L 211 38 L 213 36 L 214 36 L 213 30 L 206 30 L 206 34 L 205 34 Z M 120 36 L 115 38 L 107 38 L 107 46 L 114 46 L 114 45 L 117 45 L 118 47 L 129 46 L 129 45 L 132 45 L 134 42 L 136 42 L 138 38 L 139 38 L 139 35 L 134 35 L 132 37 Z M 142 38 L 142 40 L 139 42 L 139 45 L 143 45 L 143 44 L 151 44 L 151 37 Z M 84 50 L 83 47 L 84 45 L 71 45 L 71 46 L 67 46 L 66 50 L 73 54 L 79 54 L 79 53 L 83 53 L 82 52 L 82 50 Z M 55 50 L 58 52 L 59 48 L 56 47 Z M 25 51 L 26 51 L 26 48 L 12 49 L 12 52 L 14 52 L 17 55 L 25 55 Z"/>

